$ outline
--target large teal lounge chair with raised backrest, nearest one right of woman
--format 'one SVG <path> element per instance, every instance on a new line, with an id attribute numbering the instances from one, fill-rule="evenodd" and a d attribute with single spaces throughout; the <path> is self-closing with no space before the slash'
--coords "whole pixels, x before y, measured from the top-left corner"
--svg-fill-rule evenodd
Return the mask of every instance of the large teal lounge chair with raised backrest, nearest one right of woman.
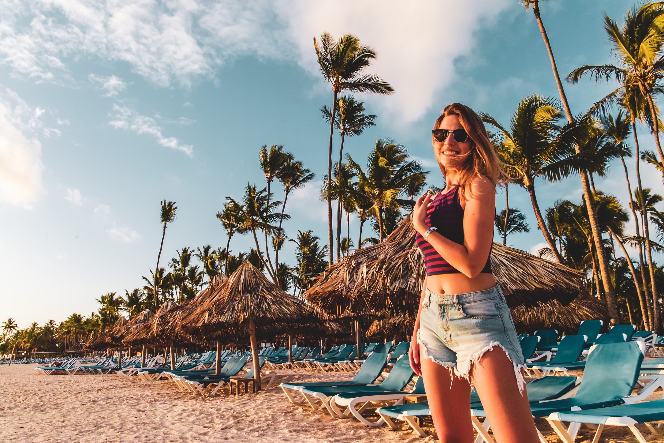
<path id="1" fill-rule="evenodd" d="M 639 377 L 644 352 L 645 345 L 636 341 L 595 345 L 588 355 L 584 377 L 576 395 L 568 399 L 531 404 L 533 416 L 542 418 L 553 412 L 564 412 L 577 408 L 604 408 L 645 399 L 655 389 L 662 387 L 662 380 L 661 377 L 654 377 L 653 381 L 643 387 L 637 395 L 631 396 Z M 482 426 L 478 419 L 478 417 L 486 416 L 484 409 L 471 408 L 471 415 L 475 430 L 485 441 L 493 443 L 493 438 L 489 436 L 487 428 Z M 572 430 L 574 436 L 576 436 L 576 432 L 578 432 L 578 427 L 576 430 Z M 541 434 L 540 439 L 542 442 L 546 442 Z"/>

